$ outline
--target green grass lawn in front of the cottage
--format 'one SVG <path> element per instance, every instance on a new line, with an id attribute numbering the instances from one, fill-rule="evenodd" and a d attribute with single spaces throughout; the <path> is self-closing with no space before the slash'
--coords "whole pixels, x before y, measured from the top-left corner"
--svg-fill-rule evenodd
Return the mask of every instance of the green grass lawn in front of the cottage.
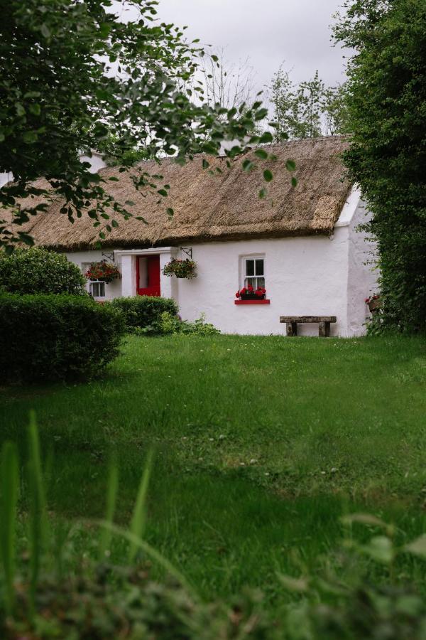
<path id="1" fill-rule="evenodd" d="M 35 409 L 58 516 L 102 516 L 114 452 L 127 522 L 153 448 L 148 540 L 208 597 L 315 570 L 342 513 L 426 530 L 422 338 L 133 337 L 99 380 L 0 403 L 23 457 Z"/>

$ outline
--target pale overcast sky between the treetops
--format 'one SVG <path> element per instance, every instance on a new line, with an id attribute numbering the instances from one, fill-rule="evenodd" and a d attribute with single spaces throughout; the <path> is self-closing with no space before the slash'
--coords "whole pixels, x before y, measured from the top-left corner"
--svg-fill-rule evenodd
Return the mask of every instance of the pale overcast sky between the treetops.
<path id="1" fill-rule="evenodd" d="M 159 17 L 187 25 L 231 63 L 250 58 L 255 88 L 268 85 L 281 63 L 293 80 L 315 70 L 328 85 L 344 80 L 342 51 L 330 42 L 332 15 L 342 0 L 160 0 Z"/>

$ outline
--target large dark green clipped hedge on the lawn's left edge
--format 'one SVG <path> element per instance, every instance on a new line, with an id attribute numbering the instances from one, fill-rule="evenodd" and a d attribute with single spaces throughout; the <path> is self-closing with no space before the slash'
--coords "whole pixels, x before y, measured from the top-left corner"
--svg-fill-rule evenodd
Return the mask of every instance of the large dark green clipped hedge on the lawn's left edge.
<path id="1" fill-rule="evenodd" d="M 0 380 L 90 375 L 119 353 L 122 314 L 89 297 L 0 295 Z"/>

